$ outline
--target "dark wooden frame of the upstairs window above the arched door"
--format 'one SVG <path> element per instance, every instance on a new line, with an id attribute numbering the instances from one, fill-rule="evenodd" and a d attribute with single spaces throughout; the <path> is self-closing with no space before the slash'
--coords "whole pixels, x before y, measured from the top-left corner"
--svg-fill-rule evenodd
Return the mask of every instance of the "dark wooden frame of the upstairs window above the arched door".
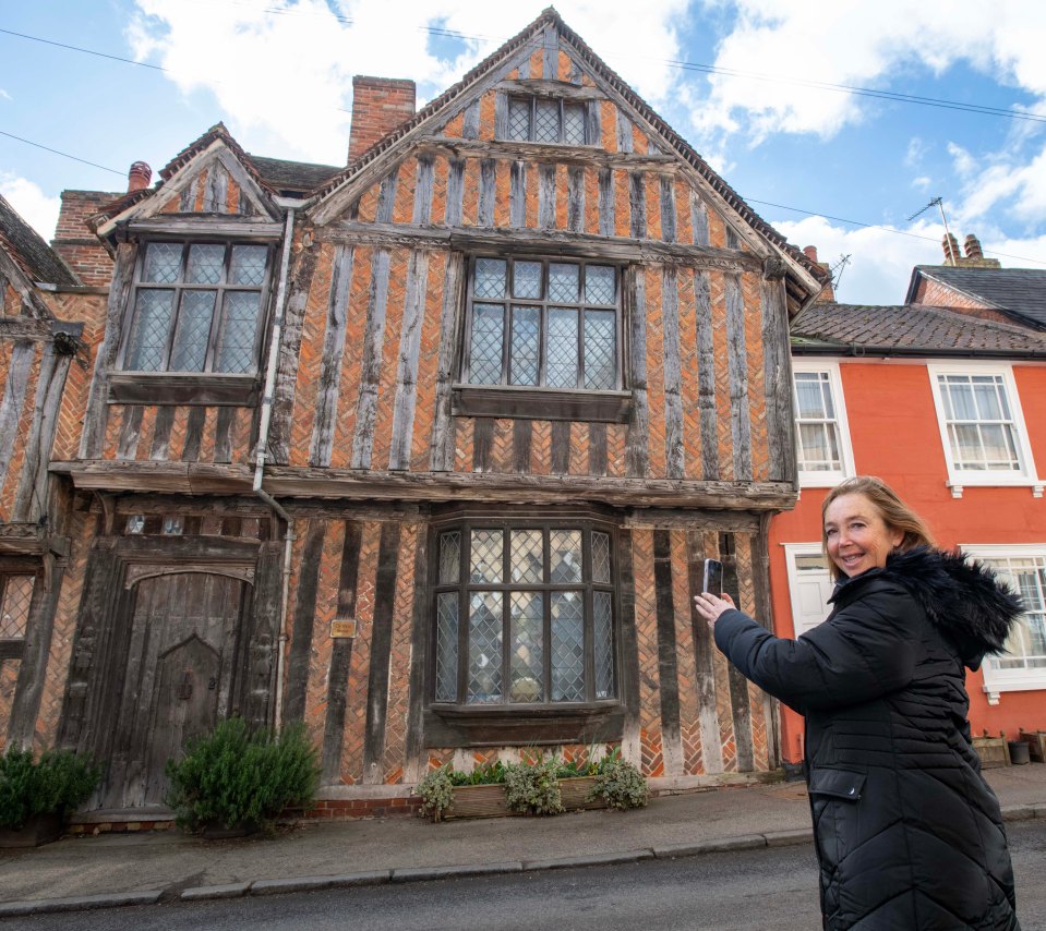
<path id="1" fill-rule="evenodd" d="M 154 244 L 177 245 L 181 249 L 179 261 L 178 278 L 169 283 L 145 281 L 145 264 L 147 261 L 148 249 Z M 194 245 L 221 245 L 225 249 L 223 256 L 221 280 L 218 283 L 193 283 L 188 281 L 189 255 Z M 260 286 L 230 285 L 228 282 L 229 273 L 232 263 L 232 250 L 235 246 L 257 246 L 265 249 L 265 270 Z M 134 271 L 131 281 L 128 305 L 125 311 L 124 332 L 121 338 L 120 351 L 117 356 L 117 363 L 113 368 L 113 375 L 118 376 L 121 383 L 135 384 L 140 379 L 163 379 L 170 382 L 177 379 L 206 379 L 217 383 L 243 383 L 245 379 L 257 377 L 261 371 L 261 352 L 264 346 L 265 334 L 268 327 L 269 299 L 273 277 L 275 249 L 268 241 L 259 241 L 253 239 L 241 239 L 230 235 L 208 235 L 205 231 L 189 237 L 175 235 L 153 235 L 142 239 L 137 243 L 137 254 L 134 259 Z M 167 341 L 164 349 L 163 367 L 156 370 L 148 368 L 128 368 L 128 356 L 131 352 L 131 340 L 134 335 L 134 324 L 137 314 L 139 294 L 149 290 L 172 290 L 175 292 L 171 322 L 169 325 Z M 175 348 L 175 338 L 178 331 L 178 323 L 182 313 L 182 295 L 189 291 L 215 291 L 215 306 L 212 311 L 211 326 L 207 330 L 207 343 L 204 354 L 204 365 L 200 370 L 171 370 L 170 361 Z M 253 364 L 241 372 L 219 372 L 214 367 L 217 353 L 218 334 L 227 312 L 226 295 L 232 292 L 257 293 L 257 324 L 254 329 L 254 344 L 251 355 Z M 229 402 L 229 401 L 225 401 Z"/>

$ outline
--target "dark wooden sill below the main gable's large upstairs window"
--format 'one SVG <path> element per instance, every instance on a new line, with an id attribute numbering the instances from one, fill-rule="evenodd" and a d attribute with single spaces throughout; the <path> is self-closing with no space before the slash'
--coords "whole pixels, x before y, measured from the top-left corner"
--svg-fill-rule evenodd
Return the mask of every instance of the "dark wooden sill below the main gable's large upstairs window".
<path id="1" fill-rule="evenodd" d="M 632 415 L 632 392 L 455 385 L 450 412 L 459 418 L 627 423 Z"/>

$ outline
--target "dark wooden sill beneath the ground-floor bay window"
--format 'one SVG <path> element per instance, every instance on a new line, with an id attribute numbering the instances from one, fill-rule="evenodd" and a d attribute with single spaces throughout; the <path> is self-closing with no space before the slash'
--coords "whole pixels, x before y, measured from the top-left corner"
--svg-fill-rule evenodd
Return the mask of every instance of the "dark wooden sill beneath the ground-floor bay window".
<path id="1" fill-rule="evenodd" d="M 620 740 L 624 715 L 616 699 L 537 708 L 432 704 L 424 713 L 424 742 L 426 747 L 498 747 Z"/>

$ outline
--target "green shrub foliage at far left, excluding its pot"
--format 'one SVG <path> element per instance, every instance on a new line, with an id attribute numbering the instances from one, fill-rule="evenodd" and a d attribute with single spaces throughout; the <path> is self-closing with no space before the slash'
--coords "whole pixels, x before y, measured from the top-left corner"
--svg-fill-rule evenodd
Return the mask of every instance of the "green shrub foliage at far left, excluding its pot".
<path id="1" fill-rule="evenodd" d="M 32 750 L 11 746 L 0 757 L 0 827 L 17 830 L 36 814 L 74 809 L 95 790 L 101 772 L 72 750 Z"/>

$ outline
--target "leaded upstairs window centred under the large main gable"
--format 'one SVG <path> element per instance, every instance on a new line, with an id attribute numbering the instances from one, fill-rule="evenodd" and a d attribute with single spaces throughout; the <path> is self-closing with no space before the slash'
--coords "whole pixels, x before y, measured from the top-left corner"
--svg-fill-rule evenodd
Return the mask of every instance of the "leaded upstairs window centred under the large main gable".
<path id="1" fill-rule="evenodd" d="M 621 387 L 621 294 L 613 265 L 478 257 L 471 263 L 464 382 Z"/>

